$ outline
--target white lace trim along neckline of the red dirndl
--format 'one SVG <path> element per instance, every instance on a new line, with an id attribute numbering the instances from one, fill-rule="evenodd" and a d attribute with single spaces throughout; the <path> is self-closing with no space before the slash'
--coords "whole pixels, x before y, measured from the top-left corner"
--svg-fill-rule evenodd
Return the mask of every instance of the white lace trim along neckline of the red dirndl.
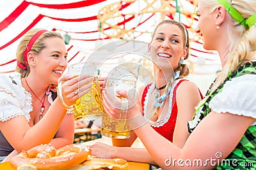
<path id="1" fill-rule="evenodd" d="M 184 79 L 178 79 L 178 80 L 175 80 L 173 82 L 172 89 L 171 89 L 171 92 L 170 92 L 168 113 L 166 114 L 166 116 L 162 120 L 157 120 L 156 122 L 154 122 L 152 120 L 148 120 L 148 123 L 150 125 L 152 125 L 152 127 L 161 127 L 161 126 L 163 126 L 164 124 L 166 124 L 166 122 L 168 122 L 169 118 L 171 117 L 171 115 L 172 115 L 173 90 L 176 87 L 177 83 L 179 83 L 180 80 L 184 80 Z M 152 83 L 152 85 L 150 85 L 150 87 L 148 88 L 148 92 L 147 92 L 146 97 L 145 97 L 145 101 L 144 101 L 144 117 L 145 118 L 147 118 L 146 113 L 147 113 L 148 97 L 149 97 L 149 94 L 152 94 L 154 88 L 155 88 L 155 83 Z"/>

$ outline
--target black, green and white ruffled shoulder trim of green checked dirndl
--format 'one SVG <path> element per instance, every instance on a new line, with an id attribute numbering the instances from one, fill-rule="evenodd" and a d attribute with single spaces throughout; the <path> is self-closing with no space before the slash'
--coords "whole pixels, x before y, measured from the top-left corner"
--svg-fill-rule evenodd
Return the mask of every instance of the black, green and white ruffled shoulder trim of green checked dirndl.
<path id="1" fill-rule="evenodd" d="M 189 132 L 192 132 L 196 125 L 201 122 L 201 120 L 211 112 L 211 108 L 209 108 L 209 103 L 212 97 L 216 96 L 219 92 L 223 90 L 223 86 L 227 81 L 230 81 L 232 78 L 243 76 L 244 74 L 255 74 L 256 73 L 256 62 L 246 62 L 243 66 L 237 67 L 236 71 L 230 71 L 227 78 L 221 83 L 221 85 L 214 91 L 209 90 L 207 92 L 207 100 L 204 101 L 200 106 L 196 109 L 193 120 L 189 121 Z"/>

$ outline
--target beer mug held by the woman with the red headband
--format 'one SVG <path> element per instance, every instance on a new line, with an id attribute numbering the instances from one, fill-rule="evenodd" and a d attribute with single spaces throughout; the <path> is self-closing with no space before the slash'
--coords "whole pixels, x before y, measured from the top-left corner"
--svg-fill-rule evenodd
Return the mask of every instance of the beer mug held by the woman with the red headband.
<path id="1" fill-rule="evenodd" d="M 79 76 L 80 74 L 89 74 L 93 76 L 93 85 L 89 92 L 84 96 L 79 96 L 76 103 L 73 104 L 72 112 L 76 121 L 95 120 L 102 117 L 102 96 L 100 93 L 100 85 L 97 78 L 97 69 L 93 62 L 81 62 L 68 66 L 68 74 L 70 76 Z M 62 82 L 58 85 L 61 89 Z M 60 94 L 60 92 L 59 92 Z"/>

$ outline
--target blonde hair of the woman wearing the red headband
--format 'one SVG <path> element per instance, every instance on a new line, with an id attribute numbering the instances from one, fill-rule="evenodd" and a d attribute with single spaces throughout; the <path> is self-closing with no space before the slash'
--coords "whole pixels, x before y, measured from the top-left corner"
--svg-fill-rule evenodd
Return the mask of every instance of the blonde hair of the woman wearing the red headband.
<path id="1" fill-rule="evenodd" d="M 20 62 L 22 65 L 26 66 L 25 64 L 25 59 L 24 59 L 24 51 L 28 46 L 29 40 L 36 34 L 36 32 L 40 31 L 42 29 L 31 29 L 30 31 L 28 31 L 25 36 L 21 39 L 19 46 L 17 48 L 17 52 L 16 52 L 16 58 L 17 58 L 17 62 Z M 63 39 L 63 36 L 61 36 L 60 33 L 58 32 L 54 32 L 54 31 L 47 31 L 44 32 L 42 35 L 40 35 L 35 43 L 33 44 L 33 46 L 31 47 L 30 52 L 33 52 L 35 55 L 38 55 L 44 48 L 45 48 L 45 42 L 44 40 L 46 38 L 52 38 L 52 37 L 58 37 Z M 20 68 L 20 67 L 16 67 L 16 71 L 18 73 L 20 73 L 20 76 L 22 78 L 28 76 L 28 74 L 30 73 L 30 68 L 29 68 L 29 64 L 27 64 L 27 69 L 24 68 Z"/>

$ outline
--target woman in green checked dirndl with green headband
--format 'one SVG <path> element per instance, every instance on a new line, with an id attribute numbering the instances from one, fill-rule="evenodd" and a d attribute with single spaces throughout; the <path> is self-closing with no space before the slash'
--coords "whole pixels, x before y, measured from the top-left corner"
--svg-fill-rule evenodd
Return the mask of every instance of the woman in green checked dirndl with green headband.
<path id="1" fill-rule="evenodd" d="M 140 104 L 127 121 L 162 169 L 256 169 L 256 1 L 198 0 L 196 14 L 196 32 L 206 50 L 219 53 L 222 70 L 188 122 L 186 143 L 177 146 L 154 131 Z"/>

